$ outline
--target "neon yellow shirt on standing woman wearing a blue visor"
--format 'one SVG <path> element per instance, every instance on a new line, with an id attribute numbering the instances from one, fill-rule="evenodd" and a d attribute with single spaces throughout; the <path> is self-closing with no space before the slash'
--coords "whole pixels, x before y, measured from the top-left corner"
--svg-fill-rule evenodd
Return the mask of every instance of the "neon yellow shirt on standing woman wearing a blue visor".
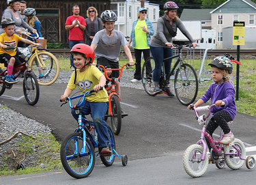
<path id="1" fill-rule="evenodd" d="M 143 31 L 143 27 L 147 29 L 146 20 L 138 20 L 136 26 L 134 27 L 135 35 L 135 46 L 136 49 L 149 49 L 147 46 L 147 32 Z"/>

